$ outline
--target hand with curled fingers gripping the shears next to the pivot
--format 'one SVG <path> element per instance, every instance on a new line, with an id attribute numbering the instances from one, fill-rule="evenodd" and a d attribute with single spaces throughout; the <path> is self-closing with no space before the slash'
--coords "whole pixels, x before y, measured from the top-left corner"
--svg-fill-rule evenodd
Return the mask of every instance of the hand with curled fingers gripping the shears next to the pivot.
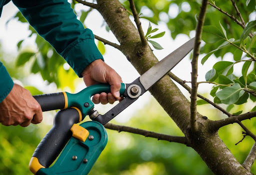
<path id="1" fill-rule="evenodd" d="M 92 97 L 92 102 L 103 105 L 113 104 L 116 100 L 121 100 L 119 90 L 121 88 L 121 77 L 101 59 L 97 59 L 90 63 L 82 72 L 83 81 L 86 86 L 97 83 L 108 83 L 111 93 L 95 94 Z"/>

